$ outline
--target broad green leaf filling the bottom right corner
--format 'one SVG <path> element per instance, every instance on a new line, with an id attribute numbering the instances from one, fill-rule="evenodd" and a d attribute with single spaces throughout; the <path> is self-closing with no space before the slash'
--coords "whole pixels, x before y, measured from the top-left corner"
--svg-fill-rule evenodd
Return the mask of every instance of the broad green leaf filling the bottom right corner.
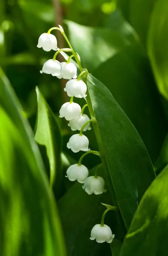
<path id="1" fill-rule="evenodd" d="M 145 192 L 120 256 L 165 256 L 168 252 L 168 166 Z"/>

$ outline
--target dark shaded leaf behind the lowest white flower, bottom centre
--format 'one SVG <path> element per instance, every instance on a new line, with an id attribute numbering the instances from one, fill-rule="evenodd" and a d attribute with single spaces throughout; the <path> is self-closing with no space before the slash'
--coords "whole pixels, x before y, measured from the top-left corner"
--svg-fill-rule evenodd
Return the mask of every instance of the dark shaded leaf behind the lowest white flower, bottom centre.
<path id="1" fill-rule="evenodd" d="M 89 170 L 89 176 L 94 175 L 95 168 Z M 103 176 L 100 168 L 98 175 Z M 69 181 L 69 183 L 72 183 Z M 74 183 L 68 192 L 58 201 L 58 209 L 65 236 L 68 256 L 111 256 L 110 245 L 98 244 L 91 241 L 91 229 L 99 224 L 105 207 L 100 202 L 111 204 L 109 192 L 102 195 L 88 195 L 83 189 L 83 184 Z M 116 234 L 115 212 L 108 212 L 105 224 L 111 227 Z"/>

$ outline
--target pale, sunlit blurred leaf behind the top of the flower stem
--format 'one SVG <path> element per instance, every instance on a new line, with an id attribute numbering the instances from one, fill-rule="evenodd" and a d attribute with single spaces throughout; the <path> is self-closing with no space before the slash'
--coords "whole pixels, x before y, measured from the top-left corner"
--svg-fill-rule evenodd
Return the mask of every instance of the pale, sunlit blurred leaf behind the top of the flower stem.
<path id="1" fill-rule="evenodd" d="M 119 16 L 120 17 L 120 16 Z M 69 39 L 75 51 L 79 53 L 83 67 L 93 72 L 101 63 L 120 52 L 125 46 L 136 42 L 134 30 L 125 26 L 121 17 L 116 20 L 120 23 L 120 29 L 94 28 L 81 26 L 66 20 L 69 31 Z"/>

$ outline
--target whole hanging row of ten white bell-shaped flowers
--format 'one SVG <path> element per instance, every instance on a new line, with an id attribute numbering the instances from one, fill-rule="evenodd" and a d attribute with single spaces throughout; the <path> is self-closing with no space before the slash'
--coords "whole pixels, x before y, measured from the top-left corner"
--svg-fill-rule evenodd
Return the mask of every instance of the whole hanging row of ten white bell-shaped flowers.
<path id="1" fill-rule="evenodd" d="M 59 26 L 60 27 L 60 26 Z M 61 32 L 63 32 L 63 28 L 60 27 Z M 55 29 L 55 28 L 52 28 Z M 53 57 L 53 59 L 49 59 L 43 64 L 42 70 L 40 73 L 51 74 L 52 76 L 56 76 L 58 79 L 68 79 L 64 91 L 67 93 L 69 97 L 71 97 L 70 102 L 65 102 L 60 108 L 60 116 L 61 118 L 65 117 L 66 120 L 69 121 L 68 126 L 72 131 L 80 131 L 79 134 L 74 134 L 70 137 L 67 147 L 70 148 L 74 153 L 79 151 L 85 151 L 86 153 L 80 158 L 78 164 L 71 165 L 66 174 L 69 180 L 74 181 L 77 180 L 79 183 L 83 183 L 83 189 L 88 195 L 95 194 L 100 195 L 105 190 L 105 180 L 102 177 L 94 176 L 88 177 L 88 169 L 86 166 L 81 164 L 81 160 L 88 153 L 94 153 L 97 151 L 90 151 L 88 138 L 83 135 L 83 131 L 90 130 L 90 122 L 92 120 L 83 113 L 85 106 L 81 110 L 79 104 L 73 102 L 73 97 L 76 98 L 84 98 L 87 96 L 87 86 L 83 80 L 81 80 L 82 76 L 85 74 L 87 76 L 87 70 L 84 70 L 80 73 L 77 78 L 77 67 L 70 63 L 70 58 L 74 55 L 71 55 L 68 58 L 67 62 L 60 63 L 56 60 L 56 56 L 60 51 L 69 51 L 73 52 L 72 49 L 58 49 L 57 48 L 57 39 L 54 35 L 50 34 L 50 29 L 48 33 L 43 33 L 40 35 L 38 40 L 37 47 L 43 48 L 45 51 L 49 52 L 51 49 L 57 51 Z M 98 152 L 97 152 L 98 153 Z M 91 230 L 91 240 L 96 239 L 98 243 L 102 243 L 107 241 L 110 243 L 113 240 L 114 235 L 112 235 L 110 227 L 107 225 L 97 224 Z"/>

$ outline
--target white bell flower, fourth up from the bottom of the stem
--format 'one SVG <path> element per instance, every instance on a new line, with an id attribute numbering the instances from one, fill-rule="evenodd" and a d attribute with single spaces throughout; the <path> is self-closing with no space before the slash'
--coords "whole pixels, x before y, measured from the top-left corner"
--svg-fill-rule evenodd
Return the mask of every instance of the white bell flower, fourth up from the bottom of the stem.
<path id="1" fill-rule="evenodd" d="M 69 139 L 69 142 L 67 143 L 67 148 L 71 148 L 71 150 L 74 153 L 81 151 L 89 151 L 90 149 L 88 148 L 88 138 L 85 135 L 80 135 L 80 134 L 74 134 L 71 136 Z"/>

